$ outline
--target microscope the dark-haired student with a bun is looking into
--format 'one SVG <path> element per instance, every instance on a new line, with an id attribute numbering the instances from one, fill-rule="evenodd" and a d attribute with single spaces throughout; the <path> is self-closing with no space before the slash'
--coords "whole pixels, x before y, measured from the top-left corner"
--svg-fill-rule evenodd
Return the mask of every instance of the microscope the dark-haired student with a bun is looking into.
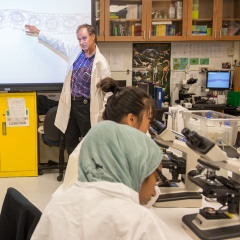
<path id="1" fill-rule="evenodd" d="M 159 181 L 161 194 L 154 207 L 201 207 L 202 196 L 198 193 L 199 187 L 188 179 L 189 172 L 196 169 L 199 154 L 186 145 L 181 139 L 183 135 L 155 119 L 150 124 L 150 130 L 155 134 L 154 140 L 160 147 L 171 147 L 182 152 L 182 157 L 166 152 L 168 159 L 162 160 L 162 167 L 169 169 L 172 179 L 168 180 L 163 176 L 162 181 Z"/>

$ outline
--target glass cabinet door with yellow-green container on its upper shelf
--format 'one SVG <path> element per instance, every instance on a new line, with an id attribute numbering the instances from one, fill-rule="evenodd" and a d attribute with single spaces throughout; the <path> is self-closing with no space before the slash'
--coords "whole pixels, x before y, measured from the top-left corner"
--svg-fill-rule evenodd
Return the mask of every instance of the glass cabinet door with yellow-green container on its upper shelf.
<path id="1" fill-rule="evenodd" d="M 217 40 L 218 0 L 188 0 L 188 40 Z"/>

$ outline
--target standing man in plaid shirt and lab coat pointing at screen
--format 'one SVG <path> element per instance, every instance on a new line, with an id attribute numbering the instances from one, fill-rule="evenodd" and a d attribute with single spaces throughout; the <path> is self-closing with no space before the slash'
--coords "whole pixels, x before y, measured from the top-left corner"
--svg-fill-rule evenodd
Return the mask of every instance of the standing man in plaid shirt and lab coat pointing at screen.
<path id="1" fill-rule="evenodd" d="M 59 100 L 55 125 L 65 133 L 70 155 L 91 126 L 101 121 L 103 92 L 97 83 L 111 76 L 109 65 L 95 44 L 95 29 L 88 24 L 76 31 L 78 44 L 71 44 L 26 25 L 28 34 L 38 34 L 38 39 L 68 57 L 68 66 Z"/>

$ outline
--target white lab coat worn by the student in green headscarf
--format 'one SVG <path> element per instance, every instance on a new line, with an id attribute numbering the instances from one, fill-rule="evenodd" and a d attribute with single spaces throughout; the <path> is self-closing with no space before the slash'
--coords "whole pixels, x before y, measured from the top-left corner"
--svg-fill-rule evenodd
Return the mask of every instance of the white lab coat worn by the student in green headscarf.
<path id="1" fill-rule="evenodd" d="M 75 182 L 46 206 L 32 240 L 177 239 L 122 183 Z"/>

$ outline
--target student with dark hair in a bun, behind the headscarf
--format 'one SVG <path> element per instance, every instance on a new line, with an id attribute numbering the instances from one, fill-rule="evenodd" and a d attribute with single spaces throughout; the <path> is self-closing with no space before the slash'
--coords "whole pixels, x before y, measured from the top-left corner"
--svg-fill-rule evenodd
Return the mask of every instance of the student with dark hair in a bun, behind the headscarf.
<path id="1" fill-rule="evenodd" d="M 107 105 L 104 106 L 105 110 L 102 114 L 104 120 L 126 124 L 147 133 L 150 127 L 150 118 L 154 115 L 155 101 L 144 90 L 136 87 L 118 87 L 112 78 L 100 81 L 99 87 L 108 96 Z M 53 195 L 65 191 L 77 180 L 78 157 L 82 142 L 69 156 L 63 184 Z"/>

